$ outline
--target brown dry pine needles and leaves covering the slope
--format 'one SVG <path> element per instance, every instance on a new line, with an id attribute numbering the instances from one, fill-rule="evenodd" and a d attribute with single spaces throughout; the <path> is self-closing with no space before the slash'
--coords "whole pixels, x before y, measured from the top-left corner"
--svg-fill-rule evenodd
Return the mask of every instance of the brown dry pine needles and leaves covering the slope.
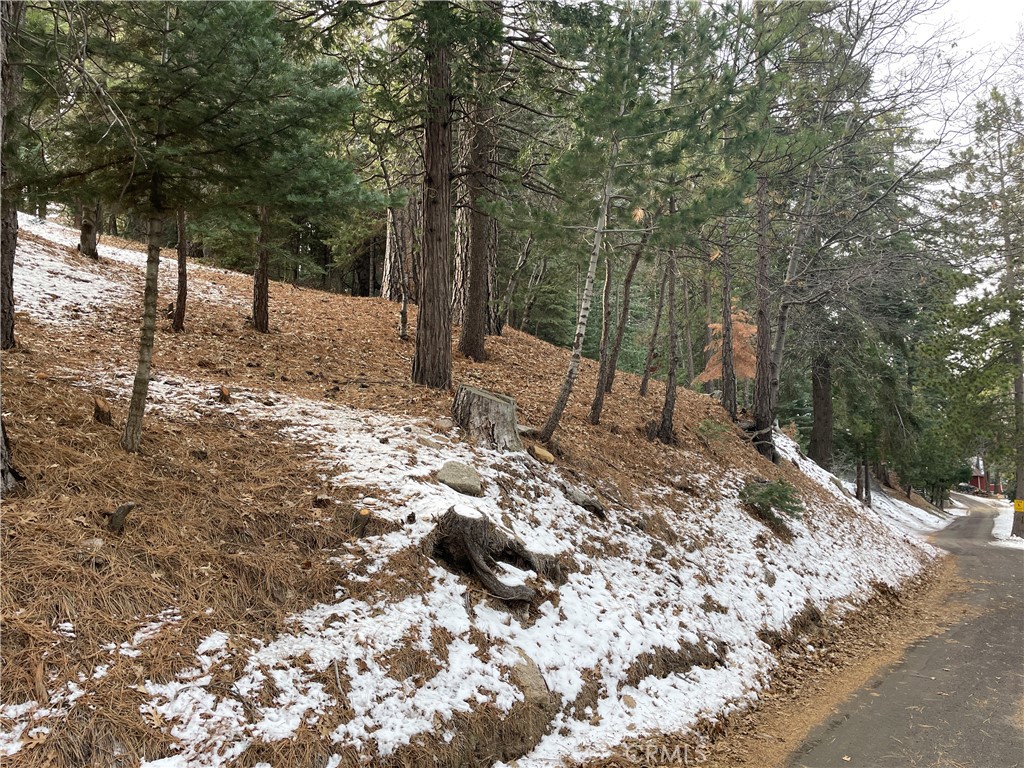
<path id="1" fill-rule="evenodd" d="M 105 266 L 131 274 L 140 289 L 131 267 Z M 216 273 L 209 280 L 232 296 L 246 297 L 251 290 L 245 275 Z M 161 306 L 166 301 L 163 297 Z M 270 308 L 271 333 L 261 335 L 246 326 L 245 310 L 238 305 L 190 301 L 184 334 L 172 334 L 161 323 L 154 374 L 205 385 L 272 388 L 395 416 L 436 420 L 449 415 L 452 392 L 409 382 L 414 346 L 394 333 L 396 305 L 275 284 Z M 314 507 L 315 496 L 325 488 L 308 452 L 269 427 L 250 424 L 243 430 L 230 419 L 184 422 L 151 411 L 143 453 L 130 456 L 119 449 L 119 429 L 92 420 L 93 392 L 73 386 L 76 377 L 69 372 L 130 374 L 137 318 L 131 305 L 75 329 L 42 328 L 18 315 L 19 348 L 3 358 L 6 425 L 15 465 L 28 483 L 4 499 L 0 521 L 0 701 L 40 699 L 47 688 L 81 677 L 95 705 L 74 708 L 44 745 L 23 750 L 5 765 L 127 766 L 166 755 L 162 723 L 139 712 L 144 696 L 135 686 L 172 679 L 213 630 L 270 638 L 286 615 L 332 599 L 344 577 L 330 561 L 332 555 L 354 555 L 350 567 L 356 574 L 369 565 L 348 532 L 353 501 L 362 492 L 333 489 L 334 505 Z M 415 328 L 415 308 L 411 323 Z M 522 423 L 542 423 L 561 383 L 566 350 L 507 330 L 487 339 L 487 352 L 481 364 L 456 355 L 454 382 L 511 395 Z M 677 444 L 650 442 L 643 429 L 660 410 L 664 386 L 655 382 L 650 394 L 641 397 L 637 377 L 621 374 L 606 399 L 604 422 L 591 426 L 586 415 L 596 377 L 596 364 L 585 360 L 552 447 L 567 477 L 591 484 L 620 510 L 651 498 L 653 488 L 677 478 L 675 484 L 685 493 L 673 498 L 675 512 L 702 514 L 720 492 L 695 487 L 687 477 L 691 472 L 714 477 L 723 470 L 784 478 L 800 488 L 808 506 L 826 500 L 795 468 L 775 467 L 758 456 L 703 395 L 679 393 Z M 115 403 L 116 426 L 119 410 Z M 717 425 L 719 435 L 711 453 L 710 424 Z M 123 535 L 110 532 L 104 513 L 129 501 L 139 508 Z M 664 505 L 667 500 L 657 501 Z M 637 520 L 637 527 L 673 543 L 670 517 Z M 605 523 L 594 518 L 593 524 L 600 536 Z M 427 562 L 426 553 L 416 548 L 402 551 L 389 561 L 386 578 L 366 585 L 349 580 L 349 594 L 384 601 L 425 590 Z M 144 643 L 141 655 L 97 651 L 104 644 L 131 642 L 137 630 L 169 606 L 181 620 Z M 531 610 L 522 607 L 520 621 L 530 623 Z M 57 631 L 65 622 L 74 625 L 74 638 Z M 432 641 L 435 649 L 446 647 L 443 637 Z M 648 660 L 666 670 L 713 663 L 688 651 L 684 655 Z M 112 667 L 100 685 L 92 675 L 106 663 Z M 436 669 L 430 654 L 412 651 L 389 663 L 395 676 Z M 238 674 L 218 671 L 213 684 L 228 695 Z M 347 686 L 334 670 L 325 673 L 323 683 L 332 690 L 340 686 L 340 693 Z M 585 686 L 574 702 L 578 714 L 596 702 L 596 685 L 595 678 Z M 340 707 L 288 742 L 254 745 L 238 764 L 322 765 L 329 754 L 322 746 L 326 734 L 350 716 Z M 432 765 L 457 766 L 511 759 L 515 755 L 509 750 L 532 738 L 539 717 L 520 705 L 506 715 L 479 708 L 452 723 L 457 735 L 451 743 L 423 737 L 375 765 L 422 765 L 429 759 Z M 506 748 L 500 746 L 502 739 Z M 114 759 L 116 751 L 123 759 Z M 364 757 L 346 753 L 342 765 L 355 766 Z"/>

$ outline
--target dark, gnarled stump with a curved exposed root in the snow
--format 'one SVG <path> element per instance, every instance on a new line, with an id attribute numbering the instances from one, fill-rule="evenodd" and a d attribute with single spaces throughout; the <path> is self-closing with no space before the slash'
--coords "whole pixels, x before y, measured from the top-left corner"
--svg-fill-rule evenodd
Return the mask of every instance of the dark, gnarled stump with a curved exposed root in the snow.
<path id="1" fill-rule="evenodd" d="M 519 568 L 530 568 L 539 574 L 557 570 L 548 557 L 530 552 L 508 536 L 483 514 L 460 514 L 455 507 L 437 521 L 431 534 L 433 554 L 456 567 L 471 571 L 483 588 L 502 600 L 532 600 L 536 590 L 524 584 L 509 585 L 501 581 L 494 566 L 503 560 Z"/>

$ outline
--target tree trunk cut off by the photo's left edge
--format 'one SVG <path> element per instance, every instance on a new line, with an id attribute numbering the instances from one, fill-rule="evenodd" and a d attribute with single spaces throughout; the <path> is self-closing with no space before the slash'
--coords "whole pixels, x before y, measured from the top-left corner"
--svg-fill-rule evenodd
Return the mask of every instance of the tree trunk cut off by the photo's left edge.
<path id="1" fill-rule="evenodd" d="M 17 194 L 7 161 L 13 155 L 13 124 L 7 119 L 22 92 L 22 65 L 11 53 L 25 18 L 26 3 L 0 1 L 0 349 L 14 346 L 14 252 L 17 250 Z"/>

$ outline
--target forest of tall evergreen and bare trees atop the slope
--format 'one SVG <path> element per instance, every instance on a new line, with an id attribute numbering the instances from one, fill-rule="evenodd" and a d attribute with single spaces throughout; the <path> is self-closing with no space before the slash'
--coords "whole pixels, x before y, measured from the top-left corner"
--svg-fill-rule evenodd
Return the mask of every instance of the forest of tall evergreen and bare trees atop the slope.
<path id="1" fill-rule="evenodd" d="M 177 331 L 200 259 L 255 275 L 264 333 L 268 278 L 417 304 L 418 384 L 453 338 L 569 346 L 545 439 L 585 355 L 594 424 L 624 369 L 766 456 L 792 422 L 936 501 L 969 457 L 1021 475 L 1020 50 L 972 89 L 930 4 L 4 8 L 4 348 L 20 206 L 86 255 L 177 244 Z"/>

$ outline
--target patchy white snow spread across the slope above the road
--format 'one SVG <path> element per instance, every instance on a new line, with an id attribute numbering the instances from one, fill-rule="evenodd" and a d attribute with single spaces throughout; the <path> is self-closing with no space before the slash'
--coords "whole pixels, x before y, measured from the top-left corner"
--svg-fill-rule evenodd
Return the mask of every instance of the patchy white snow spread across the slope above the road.
<path id="1" fill-rule="evenodd" d="M 32 258 L 46 263 L 34 253 L 19 245 L 19 269 Z M 53 268 L 69 288 L 87 286 L 75 300 L 114 298 L 93 264 L 72 256 L 49 258 L 61 264 Z M 197 276 L 201 283 L 202 272 Z M 48 322 L 52 307 L 41 297 L 46 282 L 19 285 L 19 307 Z M 83 377 L 82 386 L 99 384 L 127 397 L 125 380 L 100 371 L 75 373 Z M 250 745 L 287 739 L 339 707 L 352 715 L 327 736 L 337 754 L 358 750 L 373 762 L 373 756 L 391 755 L 428 733 L 451 738 L 456 714 L 477 707 L 507 712 L 522 699 L 510 676 L 520 652 L 537 664 L 562 706 L 549 735 L 517 766 L 605 754 L 624 738 L 685 731 L 701 717 L 742 708 L 757 698 L 776 663 L 759 632 L 784 632 L 808 603 L 822 611 L 850 608 L 873 594 L 873 584 L 895 585 L 918 572 L 934 552 L 887 522 L 896 517 L 924 526 L 920 510 L 911 513 L 880 500 L 873 511 L 851 502 L 836 478 L 800 457 L 782 436 L 783 455 L 817 480 L 828 500 L 790 522 L 796 534 L 791 544 L 767 534 L 743 511 L 737 495 L 746 478 L 735 472 L 720 479 L 718 500 L 706 498 L 694 507 L 667 484 L 652 496 L 664 504 L 611 509 L 597 528 L 590 513 L 567 498 L 570 481 L 525 454 L 477 450 L 459 441 L 456 430 L 440 434 L 426 422 L 272 391 L 236 390 L 233 402 L 222 404 L 215 398 L 218 384 L 154 380 L 151 408 L 178 419 L 228 413 L 242 424 L 275 424 L 314 452 L 326 479 L 361 488 L 362 503 L 376 515 L 396 521 L 415 515 L 411 525 L 362 540 L 366 555 L 359 557 L 374 563 L 369 575 L 386 568 L 388 558 L 419 547 L 453 505 L 484 514 L 528 548 L 561 554 L 573 564 L 563 584 L 531 571 L 518 574 L 557 596 L 538 606 L 532 623 L 486 601 L 474 602 L 465 578 L 427 565 L 429 587 L 400 600 L 353 599 L 342 582 L 334 601 L 295 613 L 288 630 L 269 641 L 214 632 L 175 679 L 139 686 L 140 713 L 165 724 L 173 740 L 172 751 L 145 768 L 227 765 Z M 453 459 L 480 472 L 482 498 L 461 496 L 433 479 Z M 687 459 L 705 466 L 702 457 Z M 675 541 L 655 540 L 636 525 L 655 515 L 676 532 Z M 342 564 L 359 559 L 343 550 L 335 556 Z M 349 579 L 367 579 L 354 572 Z M 137 662 L 132 652 L 178 621 L 187 616 L 173 605 L 159 616 L 139 617 L 140 632 L 131 644 L 100 649 L 106 656 L 95 684 L 102 684 L 111 665 Z M 444 632 L 434 633 L 438 628 Z M 478 648 L 471 633 L 482 633 L 487 645 Z M 437 659 L 436 672 L 416 680 L 388 674 L 389 653 L 411 645 Z M 664 677 L 636 675 L 647 654 L 683 649 L 706 651 L 718 662 Z M 213 683 L 224 669 L 241 670 L 232 690 Z M 321 682 L 325 673 L 339 681 L 344 676 L 344 701 L 340 683 Z M 626 682 L 631 675 L 639 677 L 634 685 Z M 588 678 L 597 681 L 595 702 L 574 713 L 571 705 Z M 18 752 L 53 718 L 87 702 L 91 694 L 83 682 L 54 682 L 47 706 L 26 701 L 0 709 L 0 754 Z"/>

